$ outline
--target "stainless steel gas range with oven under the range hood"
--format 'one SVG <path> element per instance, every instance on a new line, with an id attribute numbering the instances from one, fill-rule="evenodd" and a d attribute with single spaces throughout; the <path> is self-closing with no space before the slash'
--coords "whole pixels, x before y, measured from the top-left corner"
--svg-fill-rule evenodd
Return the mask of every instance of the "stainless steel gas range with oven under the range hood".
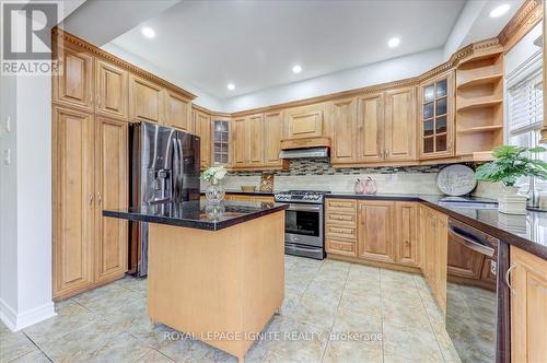
<path id="1" fill-rule="evenodd" d="M 275 200 L 289 203 L 284 216 L 284 251 L 289 255 L 325 258 L 324 195 L 328 191 L 290 190 Z"/>

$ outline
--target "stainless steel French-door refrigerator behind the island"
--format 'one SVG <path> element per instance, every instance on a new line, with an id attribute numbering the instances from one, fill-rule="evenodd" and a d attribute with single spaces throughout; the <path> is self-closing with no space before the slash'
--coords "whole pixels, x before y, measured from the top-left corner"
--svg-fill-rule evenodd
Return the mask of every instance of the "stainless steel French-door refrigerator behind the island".
<path id="1" fill-rule="evenodd" d="M 199 201 L 199 137 L 155 124 L 129 128 L 130 207 Z M 148 223 L 131 222 L 129 272 L 148 273 Z"/>

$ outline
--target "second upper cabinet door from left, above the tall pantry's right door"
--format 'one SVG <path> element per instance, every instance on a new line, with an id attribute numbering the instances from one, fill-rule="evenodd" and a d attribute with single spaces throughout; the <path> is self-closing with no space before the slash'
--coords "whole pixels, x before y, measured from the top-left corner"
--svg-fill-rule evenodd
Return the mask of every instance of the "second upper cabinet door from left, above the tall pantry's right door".
<path id="1" fill-rule="evenodd" d="M 95 67 L 95 113 L 128 118 L 128 72 L 103 60 Z"/>

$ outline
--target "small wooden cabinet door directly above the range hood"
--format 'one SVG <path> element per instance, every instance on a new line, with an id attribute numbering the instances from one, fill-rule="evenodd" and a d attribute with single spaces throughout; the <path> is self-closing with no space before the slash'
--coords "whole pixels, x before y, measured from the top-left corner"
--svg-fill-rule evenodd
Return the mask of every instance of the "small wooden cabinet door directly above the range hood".
<path id="1" fill-rule="evenodd" d="M 303 139 L 323 136 L 322 105 L 290 108 L 284 113 L 286 138 Z"/>

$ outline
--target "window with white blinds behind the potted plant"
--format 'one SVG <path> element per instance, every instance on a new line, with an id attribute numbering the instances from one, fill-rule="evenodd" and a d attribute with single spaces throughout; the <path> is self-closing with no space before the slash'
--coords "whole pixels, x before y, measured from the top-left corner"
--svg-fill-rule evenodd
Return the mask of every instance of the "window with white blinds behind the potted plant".
<path id="1" fill-rule="evenodd" d="M 526 65 L 525 65 L 526 66 Z M 525 148 L 537 147 L 543 126 L 543 72 L 542 63 L 532 61 L 527 70 L 519 74 L 519 80 L 508 80 L 508 142 Z M 547 155 L 533 154 L 547 161 Z M 521 187 L 528 185 L 528 178 L 517 180 Z M 547 183 L 540 183 L 542 189 Z M 538 180 L 536 185 L 539 186 Z"/>

